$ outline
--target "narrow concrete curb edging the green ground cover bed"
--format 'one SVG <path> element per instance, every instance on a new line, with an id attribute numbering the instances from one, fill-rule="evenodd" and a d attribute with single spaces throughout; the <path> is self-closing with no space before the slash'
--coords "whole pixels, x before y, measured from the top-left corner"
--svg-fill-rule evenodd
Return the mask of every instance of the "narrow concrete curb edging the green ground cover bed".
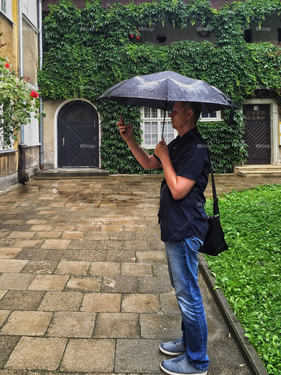
<path id="1" fill-rule="evenodd" d="M 227 324 L 230 332 L 232 333 L 239 350 L 241 351 L 245 361 L 247 361 L 247 365 L 251 369 L 253 375 L 268 375 L 265 366 L 263 365 L 260 357 L 256 353 L 253 345 L 248 342 L 248 338 L 245 335 L 245 331 L 242 328 L 241 324 L 233 314 L 232 309 L 230 308 L 226 297 L 224 296 L 223 292 L 220 288 L 213 289 L 215 287 L 215 278 L 211 274 L 211 269 L 208 266 L 203 254 L 199 255 L 199 267 L 202 273 L 202 276 L 208 285 L 209 290 L 211 291 L 215 302 L 220 309 L 221 314 L 223 315 L 224 321 Z"/>

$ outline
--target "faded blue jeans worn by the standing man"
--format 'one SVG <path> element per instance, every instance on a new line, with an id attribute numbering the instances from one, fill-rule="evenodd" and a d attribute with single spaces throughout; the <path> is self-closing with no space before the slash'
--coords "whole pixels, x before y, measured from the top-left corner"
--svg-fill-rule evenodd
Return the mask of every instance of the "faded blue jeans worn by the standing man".
<path id="1" fill-rule="evenodd" d="M 198 250 L 203 242 L 190 236 L 165 242 L 168 270 L 182 316 L 182 341 L 185 357 L 199 370 L 207 370 L 207 321 L 202 296 L 197 283 Z"/>

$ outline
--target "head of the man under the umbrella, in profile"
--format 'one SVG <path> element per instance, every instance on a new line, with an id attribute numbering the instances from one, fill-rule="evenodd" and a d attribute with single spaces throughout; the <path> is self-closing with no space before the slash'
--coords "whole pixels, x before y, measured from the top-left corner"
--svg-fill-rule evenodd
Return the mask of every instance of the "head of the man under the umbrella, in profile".
<path id="1" fill-rule="evenodd" d="M 172 126 L 181 135 L 196 126 L 200 114 L 200 102 L 175 102 L 170 114 Z"/>

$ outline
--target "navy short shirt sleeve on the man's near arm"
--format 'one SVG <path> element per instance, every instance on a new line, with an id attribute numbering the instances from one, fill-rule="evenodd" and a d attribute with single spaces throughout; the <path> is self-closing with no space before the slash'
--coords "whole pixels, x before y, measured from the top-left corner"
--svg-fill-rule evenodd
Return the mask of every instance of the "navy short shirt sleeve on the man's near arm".
<path id="1" fill-rule="evenodd" d="M 205 153 L 205 148 L 191 144 L 178 162 L 176 175 L 197 181 L 205 166 Z"/>

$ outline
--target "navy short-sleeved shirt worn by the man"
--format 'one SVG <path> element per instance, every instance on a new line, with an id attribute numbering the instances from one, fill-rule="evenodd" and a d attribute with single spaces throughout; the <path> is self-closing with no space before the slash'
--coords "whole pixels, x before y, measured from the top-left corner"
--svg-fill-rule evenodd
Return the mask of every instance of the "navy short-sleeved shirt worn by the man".
<path id="1" fill-rule="evenodd" d="M 168 144 L 169 156 L 176 175 L 196 181 L 182 199 L 174 199 L 166 183 L 161 183 L 159 222 L 163 242 L 182 240 L 195 236 L 204 240 L 207 233 L 206 198 L 209 157 L 207 145 L 197 126 Z"/>

